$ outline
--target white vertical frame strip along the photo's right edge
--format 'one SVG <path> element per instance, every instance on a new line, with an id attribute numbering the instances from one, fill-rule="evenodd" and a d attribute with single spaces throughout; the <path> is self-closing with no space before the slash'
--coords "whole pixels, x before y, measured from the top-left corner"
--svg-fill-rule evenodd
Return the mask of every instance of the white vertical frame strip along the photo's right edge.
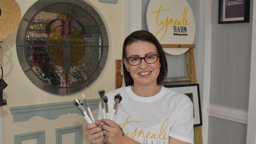
<path id="1" fill-rule="evenodd" d="M 256 144 L 256 2 L 253 2 L 252 13 L 252 51 L 250 65 L 250 89 L 249 89 L 249 108 L 248 108 L 248 124 L 247 124 L 247 140 L 246 144 Z"/>

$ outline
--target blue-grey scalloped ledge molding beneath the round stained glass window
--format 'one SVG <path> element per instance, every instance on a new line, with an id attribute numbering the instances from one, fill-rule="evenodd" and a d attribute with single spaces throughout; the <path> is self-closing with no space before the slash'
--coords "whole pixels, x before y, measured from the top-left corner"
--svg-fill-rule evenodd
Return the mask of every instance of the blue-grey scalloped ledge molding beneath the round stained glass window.
<path id="1" fill-rule="evenodd" d="M 91 111 L 98 109 L 100 98 L 87 100 Z M 85 105 L 85 103 L 84 103 Z M 61 114 L 80 113 L 73 102 L 45 103 L 38 105 L 26 105 L 19 107 L 10 107 L 13 114 L 13 122 L 27 121 L 33 116 L 42 116 L 50 120 L 58 118 Z"/>

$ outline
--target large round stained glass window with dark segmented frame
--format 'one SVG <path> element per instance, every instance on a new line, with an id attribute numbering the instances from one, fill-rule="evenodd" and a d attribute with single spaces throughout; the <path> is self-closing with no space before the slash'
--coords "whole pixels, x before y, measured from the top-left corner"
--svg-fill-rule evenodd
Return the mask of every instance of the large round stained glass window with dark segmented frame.
<path id="1" fill-rule="evenodd" d="M 70 95 L 100 76 L 108 36 L 98 13 L 84 0 L 39 0 L 22 18 L 17 54 L 26 76 L 40 89 Z"/>

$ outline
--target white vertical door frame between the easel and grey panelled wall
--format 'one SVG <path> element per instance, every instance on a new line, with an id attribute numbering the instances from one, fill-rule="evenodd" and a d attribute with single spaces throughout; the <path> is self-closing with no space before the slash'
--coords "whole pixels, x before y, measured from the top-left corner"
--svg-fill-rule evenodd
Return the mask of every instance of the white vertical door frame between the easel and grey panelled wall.
<path id="1" fill-rule="evenodd" d="M 202 138 L 203 144 L 208 143 L 208 121 L 206 112 L 210 100 L 210 78 L 211 78 L 211 7 L 212 0 L 200 0 L 199 15 L 199 46 L 204 48 L 204 76 L 203 76 L 203 102 L 202 102 Z"/>

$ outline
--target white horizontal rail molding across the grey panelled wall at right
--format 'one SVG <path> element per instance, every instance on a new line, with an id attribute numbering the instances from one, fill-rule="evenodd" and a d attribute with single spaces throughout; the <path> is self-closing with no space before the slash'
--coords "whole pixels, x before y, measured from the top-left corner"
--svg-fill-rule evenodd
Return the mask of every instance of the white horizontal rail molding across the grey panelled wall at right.
<path id="1" fill-rule="evenodd" d="M 247 124 L 247 111 L 208 104 L 206 112 L 209 116 L 214 116 L 217 118 L 223 118 L 226 120 Z"/>

